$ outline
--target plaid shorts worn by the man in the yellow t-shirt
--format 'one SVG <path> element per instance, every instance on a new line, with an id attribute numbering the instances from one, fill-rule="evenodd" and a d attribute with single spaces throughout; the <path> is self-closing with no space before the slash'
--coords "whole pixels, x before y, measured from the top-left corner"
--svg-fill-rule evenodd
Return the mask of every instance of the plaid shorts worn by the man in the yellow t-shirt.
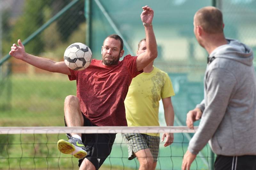
<path id="1" fill-rule="evenodd" d="M 136 152 L 149 149 L 153 155 L 154 162 L 157 162 L 160 143 L 159 136 L 150 136 L 141 133 L 124 133 L 122 136 L 128 145 L 129 160 L 136 157 Z"/>

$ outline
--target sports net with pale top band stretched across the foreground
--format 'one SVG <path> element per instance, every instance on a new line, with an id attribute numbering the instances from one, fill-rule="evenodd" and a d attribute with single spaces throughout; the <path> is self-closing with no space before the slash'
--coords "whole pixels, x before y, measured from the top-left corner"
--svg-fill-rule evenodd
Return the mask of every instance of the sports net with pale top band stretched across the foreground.
<path id="1" fill-rule="evenodd" d="M 173 133 L 174 141 L 164 147 L 160 142 L 156 169 L 181 169 L 182 158 L 195 130 L 174 127 L 0 127 L 0 169 L 78 169 L 78 159 L 57 148 L 67 133 L 116 133 L 111 154 L 100 169 L 138 169 L 138 160 L 128 160 L 127 144 L 121 133 Z M 199 152 L 191 169 L 212 169 L 214 156 L 208 145 Z"/>

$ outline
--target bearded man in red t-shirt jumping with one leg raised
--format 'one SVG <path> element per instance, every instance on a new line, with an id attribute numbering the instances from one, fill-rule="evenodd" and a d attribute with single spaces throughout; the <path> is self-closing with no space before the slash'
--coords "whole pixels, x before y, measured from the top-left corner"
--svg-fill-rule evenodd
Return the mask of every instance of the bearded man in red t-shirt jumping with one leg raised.
<path id="1" fill-rule="evenodd" d="M 74 126 L 127 126 L 124 99 L 132 78 L 157 57 L 156 39 L 152 27 L 154 11 L 142 7 L 141 21 L 145 28 L 147 50 L 139 56 L 127 55 L 122 61 L 123 40 L 118 35 L 109 35 L 101 49 L 102 60 L 93 59 L 83 71 L 73 71 L 62 62 L 40 58 L 25 52 L 20 40 L 13 44 L 9 54 L 28 64 L 47 70 L 67 74 L 76 80 L 76 96 L 68 96 L 64 103 L 65 123 Z M 72 136 L 71 136 L 72 135 Z M 68 135 L 69 140 L 59 140 L 62 153 L 80 158 L 80 169 L 99 169 L 111 152 L 116 134 Z"/>

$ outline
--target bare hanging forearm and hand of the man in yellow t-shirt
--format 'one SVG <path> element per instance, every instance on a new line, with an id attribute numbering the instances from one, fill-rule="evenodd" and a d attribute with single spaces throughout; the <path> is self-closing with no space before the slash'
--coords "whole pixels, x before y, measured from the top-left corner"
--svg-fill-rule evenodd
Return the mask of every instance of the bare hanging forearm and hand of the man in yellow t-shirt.
<path id="1" fill-rule="evenodd" d="M 172 106 L 171 97 L 162 98 L 163 105 L 164 105 L 164 118 L 166 122 L 166 126 L 173 126 L 174 122 L 174 111 Z M 164 133 L 162 137 L 162 142 L 166 137 L 166 141 L 164 143 L 164 147 L 169 146 L 173 142 L 173 133 Z"/>

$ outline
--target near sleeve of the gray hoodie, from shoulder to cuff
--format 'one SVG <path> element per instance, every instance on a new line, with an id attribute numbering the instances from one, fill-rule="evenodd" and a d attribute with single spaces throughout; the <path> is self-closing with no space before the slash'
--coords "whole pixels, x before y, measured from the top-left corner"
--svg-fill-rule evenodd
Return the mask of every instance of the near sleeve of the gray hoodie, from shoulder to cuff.
<path id="1" fill-rule="evenodd" d="M 204 113 L 188 145 L 191 153 L 197 154 L 201 151 L 214 135 L 228 107 L 235 84 L 236 78 L 230 71 L 222 68 L 209 70 L 205 79 Z"/>

